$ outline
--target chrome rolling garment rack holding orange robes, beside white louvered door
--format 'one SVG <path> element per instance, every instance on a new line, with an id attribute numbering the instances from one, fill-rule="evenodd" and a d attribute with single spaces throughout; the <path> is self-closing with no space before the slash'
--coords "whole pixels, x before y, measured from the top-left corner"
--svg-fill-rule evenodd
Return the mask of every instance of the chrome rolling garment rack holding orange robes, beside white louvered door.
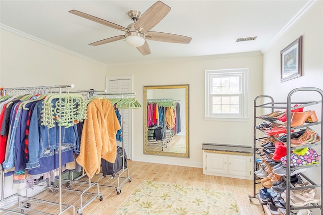
<path id="1" fill-rule="evenodd" d="M 98 96 L 102 96 L 105 97 L 107 99 L 109 99 L 109 96 L 121 96 L 121 99 L 127 98 L 127 96 L 134 96 L 136 95 L 136 93 L 101 93 L 98 94 Z M 126 96 L 126 97 L 124 97 Z M 131 97 L 129 97 L 131 98 Z M 121 129 L 123 131 L 123 109 L 121 108 Z M 129 108 L 131 109 L 131 108 Z M 106 181 L 103 181 L 103 179 L 105 179 L 104 176 L 98 178 L 95 180 L 95 183 L 99 183 L 100 186 L 104 186 L 104 187 L 113 187 L 116 189 L 117 191 L 117 195 L 119 195 L 121 193 L 121 189 L 120 187 L 126 182 L 131 182 L 131 177 L 129 175 L 129 169 L 127 167 L 125 167 L 125 163 L 124 163 L 124 140 L 122 139 L 122 171 L 118 172 L 116 175 L 118 175 L 117 178 L 117 184 L 116 185 L 111 185 L 111 184 L 105 184 Z M 127 173 L 126 176 L 122 176 L 124 173 Z M 110 179 L 114 179 L 114 176 L 111 176 Z M 121 180 L 122 179 L 122 180 Z M 88 178 L 89 182 L 91 181 L 90 178 Z"/>

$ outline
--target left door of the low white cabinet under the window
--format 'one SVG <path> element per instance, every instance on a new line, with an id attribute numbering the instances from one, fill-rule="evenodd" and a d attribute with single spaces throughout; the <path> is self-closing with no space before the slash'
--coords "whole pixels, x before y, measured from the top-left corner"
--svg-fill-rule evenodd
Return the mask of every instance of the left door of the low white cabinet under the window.
<path id="1" fill-rule="evenodd" d="M 206 153 L 206 172 L 227 174 L 228 173 L 228 154 Z"/>

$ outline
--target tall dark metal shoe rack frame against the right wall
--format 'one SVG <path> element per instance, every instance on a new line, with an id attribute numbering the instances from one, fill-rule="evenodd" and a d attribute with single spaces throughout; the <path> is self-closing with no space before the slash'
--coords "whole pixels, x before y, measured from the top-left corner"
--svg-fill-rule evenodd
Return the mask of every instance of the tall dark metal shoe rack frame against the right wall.
<path id="1" fill-rule="evenodd" d="M 315 101 L 297 101 L 297 102 L 292 102 L 292 97 L 294 95 L 294 93 L 296 92 L 306 92 L 306 95 L 309 95 L 308 93 L 318 93 L 320 97 L 320 100 L 315 100 Z M 302 93 L 302 92 L 301 92 Z M 317 95 L 317 94 L 316 94 Z M 315 95 L 315 97 L 316 97 Z M 261 104 L 258 104 L 260 102 L 263 102 L 263 101 L 268 101 L 270 100 L 270 102 L 267 102 L 267 103 L 261 103 Z M 322 138 L 322 131 L 323 131 L 323 124 L 322 124 L 322 121 L 323 121 L 323 105 L 322 105 L 322 100 L 323 100 L 323 91 L 319 88 L 314 88 L 314 87 L 302 87 L 302 88 L 295 88 L 293 89 L 292 91 L 289 92 L 287 98 L 286 98 L 286 102 L 275 102 L 274 101 L 274 98 L 272 96 L 268 96 L 268 95 L 259 95 L 257 96 L 255 99 L 254 99 L 254 132 L 253 132 L 253 135 L 254 135 L 254 144 L 253 144 L 253 160 L 254 160 L 254 171 L 257 170 L 257 164 L 255 162 L 256 160 L 256 148 L 259 146 L 259 139 L 262 139 L 262 138 L 266 138 L 268 137 L 266 135 L 266 133 L 262 133 L 261 134 L 261 137 L 257 138 L 259 135 L 259 131 L 256 131 L 258 129 L 255 129 L 255 127 L 259 124 L 259 120 L 262 120 L 263 121 L 266 121 L 265 119 L 260 119 L 258 118 L 259 111 L 264 111 L 265 109 L 270 109 L 270 113 L 274 113 L 275 111 L 277 110 L 281 110 L 282 112 L 286 111 L 286 136 L 287 136 L 287 139 L 286 139 L 286 148 L 287 148 L 287 152 L 290 152 L 291 150 L 295 150 L 295 149 L 300 149 L 300 148 L 305 148 L 305 147 L 315 147 L 317 148 L 317 150 L 320 150 L 320 151 L 317 151 L 317 154 L 321 155 L 322 152 L 323 152 L 323 144 L 321 144 L 322 140 L 320 140 L 319 142 L 316 142 L 316 143 L 309 143 L 309 144 L 306 144 L 306 145 L 303 145 L 303 146 L 298 146 L 298 147 L 291 147 L 291 132 L 293 130 L 296 130 L 296 129 L 301 129 L 301 128 L 305 128 L 305 127 L 312 127 L 312 126 L 316 126 L 315 128 L 320 127 L 318 128 L 317 130 L 320 130 L 319 132 L 316 132 L 320 138 Z M 295 104 L 297 104 L 298 106 L 294 106 Z M 313 106 L 313 105 L 316 105 L 315 108 L 319 107 L 320 108 L 320 114 L 318 114 L 320 117 L 318 118 L 318 121 L 317 122 L 313 122 L 313 123 L 303 123 L 302 125 L 300 126 L 295 126 L 295 127 L 291 127 L 291 112 L 292 110 L 294 109 L 300 109 L 300 108 L 305 108 L 306 106 Z M 261 112 L 260 112 L 261 113 Z M 273 121 L 268 121 L 268 122 L 273 122 Z M 316 130 L 316 129 L 315 129 Z M 279 140 L 277 137 L 276 139 L 278 141 L 281 141 Z M 318 149 L 319 148 L 319 149 Z M 321 156 L 320 156 L 321 157 Z M 291 167 L 291 153 L 287 153 L 286 155 L 286 158 L 287 158 L 287 167 L 286 167 L 286 170 L 287 170 L 287 174 L 284 178 L 284 180 L 286 181 L 286 214 L 290 214 L 290 212 L 292 210 L 298 210 L 298 209 L 310 209 L 310 208 L 318 208 L 320 210 L 320 214 L 323 213 L 323 210 L 322 210 L 322 202 L 323 202 L 323 187 L 322 187 L 322 183 L 323 183 L 323 168 L 322 168 L 322 165 L 321 165 L 321 162 L 322 162 L 322 159 L 320 158 L 320 164 L 313 164 L 313 165 L 308 165 L 308 166 L 300 166 L 300 167 Z M 297 170 L 297 169 L 303 169 L 303 168 L 318 168 L 317 172 L 320 174 L 320 182 L 319 183 L 314 183 L 309 177 L 307 177 L 305 174 L 303 173 L 299 173 L 300 177 L 302 178 L 302 180 L 306 181 L 309 183 L 308 186 L 304 186 L 304 187 L 294 187 L 292 186 L 291 184 L 291 171 L 294 171 L 294 170 Z M 315 170 L 316 171 L 316 170 Z M 257 179 L 256 177 L 256 174 L 254 174 L 254 177 L 253 177 L 253 180 L 254 180 L 254 183 L 253 183 L 253 195 L 249 195 L 249 200 L 252 201 L 253 198 L 257 198 L 260 202 L 260 204 L 263 206 L 263 209 L 264 209 L 264 212 L 266 214 L 271 214 L 270 211 L 268 210 L 268 207 L 266 204 L 263 204 L 261 202 L 263 202 L 261 200 L 261 198 L 259 197 L 259 193 L 256 193 L 256 185 L 257 184 L 260 184 L 260 182 L 258 182 L 259 180 Z M 288 186 L 290 185 L 290 186 Z M 320 203 L 312 203 L 312 204 L 307 204 L 305 206 L 298 206 L 298 207 L 294 207 L 291 205 L 291 191 L 293 190 L 299 190 L 299 189 L 305 189 L 305 188 L 315 188 L 317 189 L 317 194 L 319 194 L 320 196 Z M 315 213 L 316 214 L 316 213 Z"/>

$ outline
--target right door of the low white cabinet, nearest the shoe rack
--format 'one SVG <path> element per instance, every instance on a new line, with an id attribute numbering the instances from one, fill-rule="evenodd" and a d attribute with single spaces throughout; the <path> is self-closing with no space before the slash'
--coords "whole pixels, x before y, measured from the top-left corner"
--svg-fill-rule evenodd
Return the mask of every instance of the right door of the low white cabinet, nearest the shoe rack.
<path id="1" fill-rule="evenodd" d="M 244 155 L 229 156 L 229 175 L 250 177 L 251 175 L 251 158 Z"/>

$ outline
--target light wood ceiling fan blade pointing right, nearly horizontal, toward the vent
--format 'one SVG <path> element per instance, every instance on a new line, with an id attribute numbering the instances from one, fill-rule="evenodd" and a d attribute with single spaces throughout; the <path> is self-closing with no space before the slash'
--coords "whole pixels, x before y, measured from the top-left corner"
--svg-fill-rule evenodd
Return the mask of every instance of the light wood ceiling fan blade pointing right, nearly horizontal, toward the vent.
<path id="1" fill-rule="evenodd" d="M 146 39 L 161 41 L 161 42 L 175 42 L 175 43 L 190 43 L 191 37 L 182 36 L 178 34 L 170 34 L 156 31 L 148 31 L 145 34 Z"/>

